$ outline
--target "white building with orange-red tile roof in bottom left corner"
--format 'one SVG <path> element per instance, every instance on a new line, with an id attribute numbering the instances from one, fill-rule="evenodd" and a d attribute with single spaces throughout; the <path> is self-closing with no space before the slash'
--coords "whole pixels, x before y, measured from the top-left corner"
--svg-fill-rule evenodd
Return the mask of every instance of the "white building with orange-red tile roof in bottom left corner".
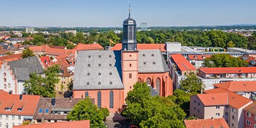
<path id="1" fill-rule="evenodd" d="M 40 96 L 0 93 L 0 127 L 10 128 L 32 121 Z"/>

